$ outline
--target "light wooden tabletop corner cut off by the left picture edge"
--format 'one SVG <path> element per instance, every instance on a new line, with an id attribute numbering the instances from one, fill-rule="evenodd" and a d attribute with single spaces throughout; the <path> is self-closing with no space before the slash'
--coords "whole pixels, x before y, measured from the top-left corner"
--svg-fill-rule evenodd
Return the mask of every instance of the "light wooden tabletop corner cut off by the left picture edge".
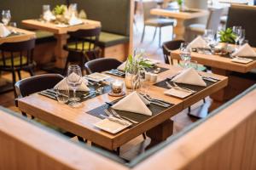
<path id="1" fill-rule="evenodd" d="M 36 37 L 35 32 L 33 32 L 33 31 L 26 31 L 26 30 L 11 27 L 11 26 L 8 26 L 7 28 L 9 30 L 19 32 L 21 34 L 9 36 L 9 37 L 0 37 L 0 44 L 2 44 L 4 42 L 21 42 L 21 41 L 26 41 L 26 40 Z"/>

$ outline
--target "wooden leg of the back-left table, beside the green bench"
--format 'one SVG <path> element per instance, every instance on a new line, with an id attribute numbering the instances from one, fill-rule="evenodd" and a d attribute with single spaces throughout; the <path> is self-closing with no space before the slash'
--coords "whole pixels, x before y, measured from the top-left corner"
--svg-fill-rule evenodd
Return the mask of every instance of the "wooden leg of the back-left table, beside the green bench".
<path id="1" fill-rule="evenodd" d="M 55 67 L 64 68 L 66 59 L 67 59 L 67 51 L 63 49 L 63 46 L 67 44 L 67 34 L 55 34 L 55 38 L 57 39 L 57 44 L 55 46 Z"/>

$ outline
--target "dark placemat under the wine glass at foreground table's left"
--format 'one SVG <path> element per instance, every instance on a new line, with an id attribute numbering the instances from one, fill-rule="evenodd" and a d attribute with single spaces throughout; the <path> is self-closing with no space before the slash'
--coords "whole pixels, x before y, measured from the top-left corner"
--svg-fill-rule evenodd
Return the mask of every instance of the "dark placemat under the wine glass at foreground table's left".
<path id="1" fill-rule="evenodd" d="M 89 85 L 88 87 L 90 88 L 90 91 L 96 90 L 96 88 L 98 88 L 98 86 L 92 86 L 92 85 Z M 109 85 L 103 86 L 102 94 L 107 94 L 110 91 L 111 91 L 111 87 Z M 41 94 L 41 95 L 44 95 L 45 97 L 48 97 L 50 99 L 55 99 L 56 100 L 54 95 L 51 95 L 51 94 L 45 95 L 44 91 L 39 92 L 38 94 Z M 96 96 L 102 95 L 102 94 L 93 94 L 90 97 L 84 99 L 83 98 L 84 94 L 89 94 L 89 92 L 81 92 L 81 91 L 77 91 L 76 92 L 76 96 L 81 99 L 79 102 L 84 102 L 84 101 L 86 101 L 88 99 L 92 99 L 92 98 L 95 98 Z M 73 90 L 69 90 L 69 97 L 73 97 Z M 69 102 L 67 102 L 67 105 L 68 104 L 69 104 Z"/>

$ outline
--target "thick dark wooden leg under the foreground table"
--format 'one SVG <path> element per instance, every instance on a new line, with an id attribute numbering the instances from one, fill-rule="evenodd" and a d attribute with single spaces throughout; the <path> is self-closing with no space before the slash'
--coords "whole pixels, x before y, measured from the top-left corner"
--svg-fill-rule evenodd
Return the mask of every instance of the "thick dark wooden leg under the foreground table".
<path id="1" fill-rule="evenodd" d="M 146 149 L 153 147 L 160 142 L 165 141 L 173 132 L 173 121 L 171 119 L 162 122 L 160 125 L 151 128 L 146 132 L 147 136 L 151 139 L 150 144 Z"/>

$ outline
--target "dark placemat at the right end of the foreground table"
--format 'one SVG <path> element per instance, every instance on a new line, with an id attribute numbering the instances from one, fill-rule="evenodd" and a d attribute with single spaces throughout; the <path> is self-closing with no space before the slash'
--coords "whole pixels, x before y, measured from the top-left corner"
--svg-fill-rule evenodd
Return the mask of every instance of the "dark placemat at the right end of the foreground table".
<path id="1" fill-rule="evenodd" d="M 210 81 L 207 81 L 207 80 L 204 80 L 204 81 L 207 83 L 207 87 L 212 86 L 212 84 L 216 83 L 216 82 L 210 82 Z M 169 82 L 170 84 L 172 84 L 172 81 L 170 81 L 169 79 L 166 79 L 164 81 L 155 83 L 154 86 L 169 89 L 166 85 L 166 82 Z M 182 88 L 189 88 L 191 90 L 196 91 L 197 93 L 200 92 L 201 90 L 207 88 L 207 87 L 201 87 L 201 86 L 195 86 L 195 85 L 189 85 L 189 84 L 183 84 L 183 83 L 177 83 L 177 85 L 182 87 Z"/>

